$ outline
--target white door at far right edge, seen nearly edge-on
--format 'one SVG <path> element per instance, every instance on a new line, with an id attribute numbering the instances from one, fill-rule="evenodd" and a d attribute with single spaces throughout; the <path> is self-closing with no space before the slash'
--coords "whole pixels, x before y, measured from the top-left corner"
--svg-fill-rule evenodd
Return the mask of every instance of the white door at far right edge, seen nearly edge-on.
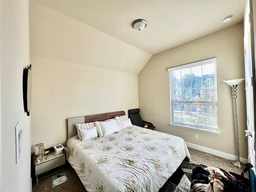
<path id="1" fill-rule="evenodd" d="M 255 89 L 255 74 L 252 69 L 255 68 L 252 63 L 252 49 L 251 49 L 251 31 L 250 31 L 250 6 L 247 2 L 245 22 L 244 22 L 244 63 L 245 63 L 245 88 L 246 88 L 246 112 L 247 112 L 247 130 L 248 137 L 248 160 L 256 167 L 255 156 L 255 132 L 254 132 L 254 94 Z"/>

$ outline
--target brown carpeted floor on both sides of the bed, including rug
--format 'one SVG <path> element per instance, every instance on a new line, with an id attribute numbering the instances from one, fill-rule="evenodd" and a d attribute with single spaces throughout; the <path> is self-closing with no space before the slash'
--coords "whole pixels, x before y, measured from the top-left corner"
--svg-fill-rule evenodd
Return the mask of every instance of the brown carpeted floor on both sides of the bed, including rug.
<path id="1" fill-rule="evenodd" d="M 201 152 L 192 148 L 188 148 L 191 161 L 182 162 L 178 170 L 164 184 L 159 192 L 190 192 L 190 180 L 192 169 L 198 166 L 212 166 L 222 168 L 226 171 L 241 174 L 242 169 L 233 166 L 230 160 L 214 156 L 205 152 Z M 32 192 L 86 192 L 82 182 L 79 180 L 76 172 L 71 168 L 66 169 L 68 182 L 52 188 L 52 177 L 39 181 L 39 185 L 33 184 Z"/>

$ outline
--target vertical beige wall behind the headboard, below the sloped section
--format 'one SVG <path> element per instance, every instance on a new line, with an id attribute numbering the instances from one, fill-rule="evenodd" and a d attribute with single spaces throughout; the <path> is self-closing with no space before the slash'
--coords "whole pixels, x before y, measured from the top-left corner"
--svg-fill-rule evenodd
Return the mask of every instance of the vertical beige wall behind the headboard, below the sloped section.
<path id="1" fill-rule="evenodd" d="M 32 147 L 66 144 L 66 119 L 138 107 L 138 76 L 30 56 Z M 33 150 L 33 149 L 32 149 Z"/>

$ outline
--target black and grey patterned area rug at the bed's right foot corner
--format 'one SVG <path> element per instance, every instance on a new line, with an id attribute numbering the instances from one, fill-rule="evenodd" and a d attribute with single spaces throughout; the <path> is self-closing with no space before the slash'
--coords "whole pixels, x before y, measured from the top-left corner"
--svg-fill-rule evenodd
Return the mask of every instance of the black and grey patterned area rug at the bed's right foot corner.
<path id="1" fill-rule="evenodd" d="M 206 168 L 204 165 L 184 160 L 159 192 L 190 192 L 192 169 L 198 166 Z"/>

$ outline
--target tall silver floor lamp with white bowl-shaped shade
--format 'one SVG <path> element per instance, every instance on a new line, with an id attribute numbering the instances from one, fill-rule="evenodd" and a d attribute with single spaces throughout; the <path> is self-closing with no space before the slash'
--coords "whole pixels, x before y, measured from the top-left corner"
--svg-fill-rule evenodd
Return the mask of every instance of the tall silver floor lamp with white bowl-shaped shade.
<path id="1" fill-rule="evenodd" d="M 237 143 L 237 161 L 231 161 L 230 163 L 233 164 L 234 166 L 237 166 L 239 168 L 243 168 L 244 164 L 242 164 L 240 162 L 240 155 L 239 155 L 239 139 L 238 139 L 238 126 L 237 126 L 237 112 L 236 112 L 236 87 L 238 86 L 238 84 L 240 84 L 240 82 L 242 82 L 244 79 L 234 79 L 234 80 L 227 80 L 227 81 L 223 81 L 227 84 L 229 84 L 232 87 L 232 91 L 233 91 L 233 98 L 234 98 L 234 104 L 235 104 L 235 120 L 236 120 L 236 143 Z"/>

